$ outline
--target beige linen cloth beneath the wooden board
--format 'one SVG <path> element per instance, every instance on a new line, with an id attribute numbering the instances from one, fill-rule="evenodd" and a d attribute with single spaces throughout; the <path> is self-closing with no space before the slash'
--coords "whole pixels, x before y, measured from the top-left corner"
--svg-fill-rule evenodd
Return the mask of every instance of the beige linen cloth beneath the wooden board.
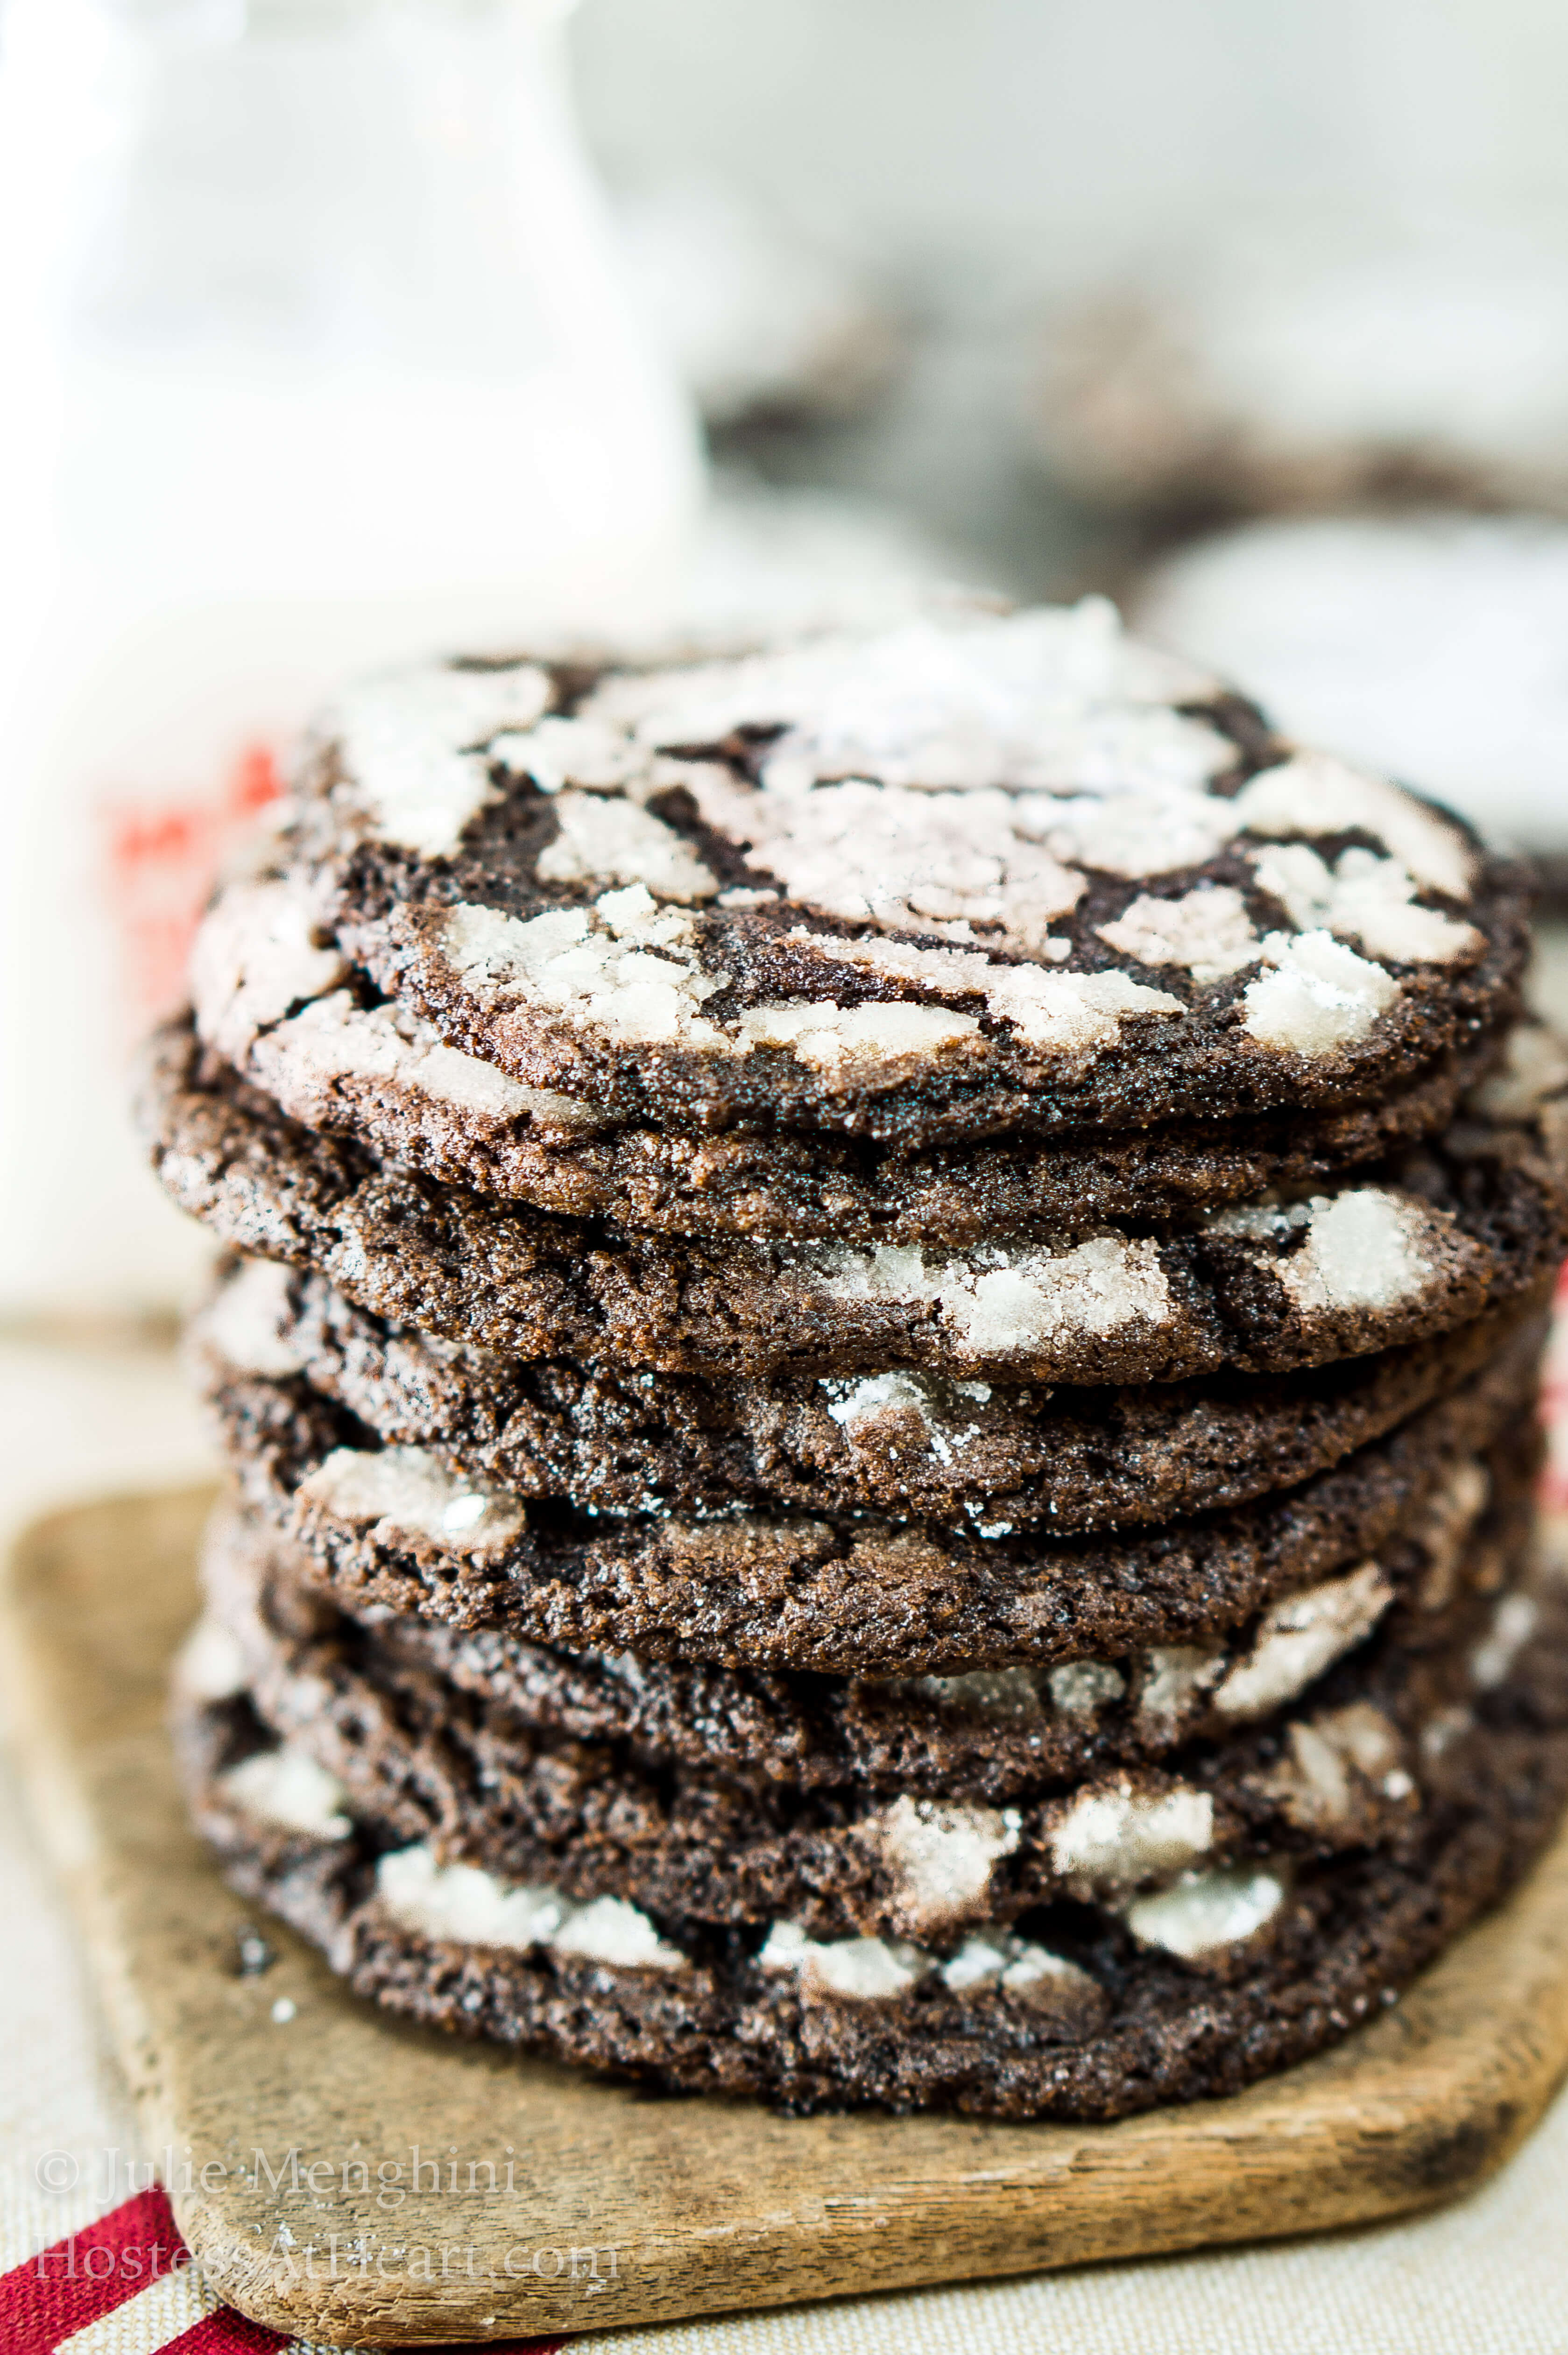
<path id="1" fill-rule="evenodd" d="M 1563 1345 L 1559 1366 L 1563 1397 Z M 193 1479 L 210 1467 L 179 1373 L 153 1352 L 0 1345 L 0 1432 L 2 1535 L 31 1512 L 78 1495 Z M 1568 1446 L 1559 1479 L 1568 1481 Z M 71 1924 L 7 1783 L 0 1792 L 0 2275 L 125 2197 L 125 2178 L 118 2188 L 101 2181 L 94 2155 L 104 2150 L 134 2152 L 137 2129 Z M 80 2181 L 49 2188 L 78 2155 Z M 278 2341 L 247 2336 L 184 2270 L 54 2346 L 66 2355 L 162 2348 L 240 2355 Z M 584 2341 L 584 2355 L 1391 2355 L 1406 2348 L 1568 2350 L 1568 2096 L 1479 2195 L 1410 2223 Z"/>

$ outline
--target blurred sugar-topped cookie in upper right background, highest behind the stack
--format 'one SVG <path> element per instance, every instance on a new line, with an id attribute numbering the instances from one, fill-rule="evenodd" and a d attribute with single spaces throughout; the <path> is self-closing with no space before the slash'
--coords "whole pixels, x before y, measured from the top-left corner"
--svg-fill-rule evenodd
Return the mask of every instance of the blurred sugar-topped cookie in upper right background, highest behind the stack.
<path id="1" fill-rule="evenodd" d="M 1566 356 L 1561 240 L 1523 214 L 1285 207 L 1064 297 L 1029 414 L 1059 487 L 1161 537 L 1238 513 L 1561 516 Z"/>

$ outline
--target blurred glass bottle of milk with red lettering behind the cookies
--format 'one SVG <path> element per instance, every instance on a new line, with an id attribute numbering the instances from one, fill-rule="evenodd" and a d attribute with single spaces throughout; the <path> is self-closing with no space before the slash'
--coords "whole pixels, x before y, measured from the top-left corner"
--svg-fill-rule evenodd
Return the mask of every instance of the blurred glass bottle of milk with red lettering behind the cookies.
<path id="1" fill-rule="evenodd" d="M 226 836 L 346 671 L 647 631 L 695 438 L 546 0 L 9 0 L 0 1314 L 193 1258 L 125 1123 Z"/>

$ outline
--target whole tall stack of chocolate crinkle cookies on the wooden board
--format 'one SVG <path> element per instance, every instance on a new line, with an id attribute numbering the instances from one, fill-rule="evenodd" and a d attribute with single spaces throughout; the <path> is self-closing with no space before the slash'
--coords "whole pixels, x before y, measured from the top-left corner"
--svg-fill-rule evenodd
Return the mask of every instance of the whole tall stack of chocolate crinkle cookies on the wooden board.
<path id="1" fill-rule="evenodd" d="M 1568 1787 L 1526 954 L 1097 601 L 346 697 L 146 1081 L 233 1884 L 796 2110 L 1114 2117 L 1391 2002 Z"/>

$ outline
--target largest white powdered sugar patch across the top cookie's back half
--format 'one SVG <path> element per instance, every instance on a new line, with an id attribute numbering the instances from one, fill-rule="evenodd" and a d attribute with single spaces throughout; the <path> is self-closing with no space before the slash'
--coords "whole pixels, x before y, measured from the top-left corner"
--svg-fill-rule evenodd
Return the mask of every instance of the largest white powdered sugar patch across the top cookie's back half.
<path id="1" fill-rule="evenodd" d="M 546 711 L 553 688 L 527 664 L 410 671 L 341 702 L 323 737 L 346 780 L 334 794 L 403 848 L 452 853 L 504 768 L 558 796 L 542 883 L 706 900 L 716 878 L 643 808 L 678 782 L 763 881 L 803 904 L 961 937 L 984 923 L 1036 951 L 1083 893 L 1052 836 L 1081 864 L 1142 874 L 1151 855 L 1184 864 L 1231 831 L 1205 789 L 1234 749 L 1172 709 L 1210 692 L 1201 671 L 1128 643 L 1114 608 L 1085 598 L 610 674 L 570 718 Z M 683 756 L 735 730 L 775 732 L 756 787 Z"/>

